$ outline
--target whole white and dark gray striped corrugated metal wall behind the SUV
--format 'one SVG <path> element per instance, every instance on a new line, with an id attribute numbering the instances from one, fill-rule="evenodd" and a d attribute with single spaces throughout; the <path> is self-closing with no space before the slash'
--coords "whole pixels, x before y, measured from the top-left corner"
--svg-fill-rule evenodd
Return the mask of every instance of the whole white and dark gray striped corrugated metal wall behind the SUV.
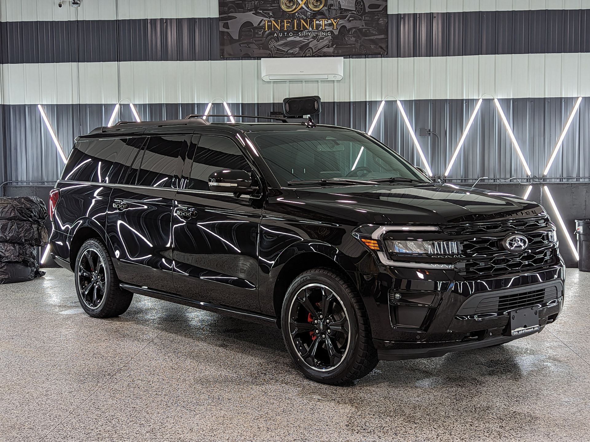
<path id="1" fill-rule="evenodd" d="M 383 97 L 399 97 L 415 130 L 434 133 L 419 142 L 436 174 L 445 170 L 477 98 L 494 94 L 532 173 L 540 176 L 576 97 L 590 96 L 585 0 L 501 2 L 526 10 L 485 12 L 455 7 L 473 2 L 411 2 L 414 9 L 401 3 L 389 4 L 387 57 L 345 60 L 340 82 L 268 84 L 257 60 L 219 60 L 217 0 L 101 0 L 77 9 L 3 0 L 0 180 L 60 174 L 38 103 L 67 153 L 76 136 L 106 124 L 121 98 L 136 103 L 143 120 L 153 120 L 202 111 L 214 97 L 232 103 L 236 113 L 267 115 L 280 110 L 284 97 L 307 94 L 326 100 L 323 123 L 362 130 Z M 476 3 L 475 9 L 485 9 L 491 2 Z M 440 11 L 453 12 L 437 12 L 442 4 L 447 7 Z M 578 9 L 540 9 L 565 7 Z M 582 101 L 550 177 L 590 177 L 589 100 Z M 132 118 L 127 106 L 120 117 Z M 421 164 L 393 101 L 374 134 Z M 450 174 L 481 176 L 525 176 L 491 100 L 481 106 Z"/>

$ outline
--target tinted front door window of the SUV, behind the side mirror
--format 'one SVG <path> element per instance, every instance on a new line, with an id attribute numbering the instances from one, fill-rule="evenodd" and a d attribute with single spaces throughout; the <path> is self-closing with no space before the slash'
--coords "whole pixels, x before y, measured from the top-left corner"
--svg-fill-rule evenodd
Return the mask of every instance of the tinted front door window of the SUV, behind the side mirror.
<path id="1" fill-rule="evenodd" d="M 230 138 L 202 136 L 186 189 L 209 190 L 209 175 L 219 169 L 252 171 L 240 148 Z"/>

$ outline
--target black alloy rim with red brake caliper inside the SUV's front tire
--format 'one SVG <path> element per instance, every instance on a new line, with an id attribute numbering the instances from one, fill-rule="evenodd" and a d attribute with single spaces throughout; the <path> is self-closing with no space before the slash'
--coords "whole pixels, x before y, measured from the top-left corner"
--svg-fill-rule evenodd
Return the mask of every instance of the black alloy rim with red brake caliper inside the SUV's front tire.
<path id="1" fill-rule="evenodd" d="M 291 301 L 291 342 L 312 370 L 332 370 L 342 362 L 350 347 L 349 328 L 342 301 L 325 285 L 306 285 Z"/>

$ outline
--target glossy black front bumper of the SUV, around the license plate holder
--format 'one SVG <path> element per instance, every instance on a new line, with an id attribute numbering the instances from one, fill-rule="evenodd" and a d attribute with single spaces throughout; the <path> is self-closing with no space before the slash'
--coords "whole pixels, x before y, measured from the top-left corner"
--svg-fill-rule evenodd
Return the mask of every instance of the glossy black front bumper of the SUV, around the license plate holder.
<path id="1" fill-rule="evenodd" d="M 453 271 L 380 267 L 361 293 L 385 360 L 438 357 L 542 331 L 563 306 L 564 268 L 466 281 Z M 509 312 L 536 306 L 539 330 L 512 337 Z"/>

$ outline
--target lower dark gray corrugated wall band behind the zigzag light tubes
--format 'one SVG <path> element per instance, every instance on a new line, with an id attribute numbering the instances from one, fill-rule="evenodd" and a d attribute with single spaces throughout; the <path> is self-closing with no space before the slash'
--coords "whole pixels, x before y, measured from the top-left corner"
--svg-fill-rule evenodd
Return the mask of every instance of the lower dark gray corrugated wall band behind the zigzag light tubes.
<path id="1" fill-rule="evenodd" d="M 500 104 L 513 128 L 533 175 L 541 176 L 556 140 L 565 125 L 575 98 L 502 99 Z M 404 101 L 408 119 L 416 133 L 420 128 L 435 134 L 418 136 L 434 174 L 444 173 L 455 146 L 477 100 Z M 326 102 L 318 123 L 367 130 L 379 101 Z M 205 111 L 207 103 L 139 104 L 142 120 L 170 120 Z M 231 103 L 234 114 L 270 115 L 281 103 Z M 74 138 L 109 121 L 114 104 L 45 105 L 47 116 L 67 154 Z M 62 161 L 35 105 L 3 105 L 4 143 L 2 160 L 6 180 L 57 179 Z M 221 103 L 211 113 L 225 114 Z M 119 118 L 133 120 L 128 105 L 122 104 Z M 217 118 L 221 121 L 223 118 Z M 387 101 L 373 136 L 391 146 L 414 164 L 421 164 L 417 150 L 395 101 Z M 549 177 L 590 177 L 590 100 L 581 107 L 563 141 Z M 525 177 L 506 128 L 493 100 L 484 100 L 451 170 L 451 179 Z"/>

